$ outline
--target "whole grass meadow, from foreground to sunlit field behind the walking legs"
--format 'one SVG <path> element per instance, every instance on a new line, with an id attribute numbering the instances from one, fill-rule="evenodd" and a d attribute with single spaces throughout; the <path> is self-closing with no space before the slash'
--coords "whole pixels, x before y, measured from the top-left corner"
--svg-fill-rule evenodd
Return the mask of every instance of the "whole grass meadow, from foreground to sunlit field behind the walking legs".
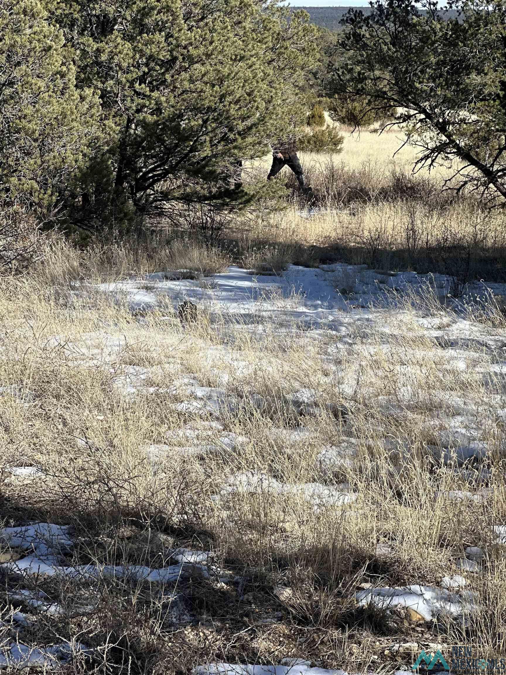
<path id="1" fill-rule="evenodd" d="M 412 175 L 397 137 L 302 156 L 316 203 L 284 169 L 289 207 L 211 245 L 54 238 L 0 280 L 4 528 L 52 523 L 72 541 L 54 543 L 51 572 L 37 541 L 4 531 L 12 659 L 24 645 L 47 672 L 304 659 L 387 673 L 421 649 L 505 653 L 503 296 L 455 311 L 395 291 L 308 329 L 296 294 L 193 316 L 152 276 L 209 294 L 231 264 L 253 279 L 333 262 L 441 273 L 457 295 L 505 281 L 503 212 L 442 192 L 443 169 Z M 149 311 L 111 290 L 129 280 L 156 296 Z"/>

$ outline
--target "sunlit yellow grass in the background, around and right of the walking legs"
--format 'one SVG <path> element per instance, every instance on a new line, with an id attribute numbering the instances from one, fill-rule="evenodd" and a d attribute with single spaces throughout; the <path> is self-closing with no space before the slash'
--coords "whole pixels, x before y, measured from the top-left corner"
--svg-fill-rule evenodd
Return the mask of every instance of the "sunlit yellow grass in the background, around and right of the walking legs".
<path id="1" fill-rule="evenodd" d="M 404 146 L 394 157 L 402 140 L 399 130 L 362 131 L 347 133 L 338 155 L 301 153 L 316 200 L 308 204 L 285 169 L 279 180 L 292 190 L 291 207 L 254 213 L 250 240 L 291 246 L 296 263 L 330 257 L 377 269 L 445 273 L 462 284 L 504 281 L 503 210 L 489 211 L 471 196 L 442 190 L 448 167 L 413 174 L 413 148 Z M 266 172 L 269 161 L 262 159 L 254 171 Z"/>

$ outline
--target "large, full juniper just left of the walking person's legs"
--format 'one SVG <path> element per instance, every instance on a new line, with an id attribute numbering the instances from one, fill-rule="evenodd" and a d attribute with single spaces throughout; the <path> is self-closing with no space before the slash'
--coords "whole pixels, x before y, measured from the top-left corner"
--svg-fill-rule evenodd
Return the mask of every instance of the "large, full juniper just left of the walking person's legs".
<path id="1" fill-rule="evenodd" d="M 94 215 L 229 199 L 233 162 L 304 114 L 316 52 L 305 14 L 258 0 L 47 1 L 79 86 L 100 92 L 109 136 L 83 188 Z"/>

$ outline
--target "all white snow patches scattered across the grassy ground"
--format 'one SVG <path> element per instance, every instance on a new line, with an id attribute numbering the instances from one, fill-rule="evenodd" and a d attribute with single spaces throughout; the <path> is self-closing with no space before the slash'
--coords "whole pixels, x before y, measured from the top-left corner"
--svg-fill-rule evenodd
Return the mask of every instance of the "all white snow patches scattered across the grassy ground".
<path id="1" fill-rule="evenodd" d="M 255 329 L 262 329 L 262 322 L 273 321 L 280 330 L 287 325 L 310 330 L 316 338 L 321 337 L 320 329 L 332 331 L 337 338 L 328 345 L 329 354 L 335 356 L 349 346 L 356 346 L 356 336 L 352 331 L 359 330 L 362 335 L 362 350 L 376 349 L 375 345 L 364 344 L 368 331 L 385 333 L 391 338 L 391 322 L 385 320 L 374 308 L 385 303 L 395 303 L 395 293 L 410 293 L 422 296 L 432 292 L 446 304 L 457 310 L 466 302 L 466 298 L 480 300 L 486 296 L 488 289 L 493 294 L 506 295 L 506 285 L 472 284 L 466 288 L 465 297 L 459 300 L 449 298 L 454 281 L 443 275 L 417 275 L 416 273 L 391 274 L 367 269 L 364 265 L 322 265 L 318 269 L 307 269 L 290 266 L 283 275 L 254 276 L 239 267 L 230 267 L 225 273 L 215 275 L 212 279 L 167 279 L 164 273 L 146 275 L 142 279 L 129 279 L 114 284 L 101 284 L 99 289 L 117 296 L 118 300 L 126 300 L 133 311 L 149 311 L 165 302 L 163 307 L 177 308 L 184 300 L 192 300 L 203 306 L 206 311 L 219 313 L 221 317 L 230 317 L 232 322 L 241 323 L 247 329 L 248 323 Z M 144 288 L 143 288 L 144 286 Z M 80 293 L 76 288 L 74 293 Z M 374 310 L 374 311 L 373 311 Z M 170 309 L 169 309 L 170 313 Z M 142 319 L 140 319 L 142 321 Z M 490 365 L 484 362 L 483 354 L 490 350 L 494 354 L 506 346 L 500 335 L 490 334 L 490 328 L 469 321 L 464 315 L 414 317 L 415 323 L 426 330 L 426 335 L 447 350 L 447 367 L 454 371 L 466 373 L 469 369 L 487 373 L 493 371 L 498 375 L 506 373 L 506 359 L 497 357 L 497 362 Z M 318 333 L 320 331 L 320 333 Z M 493 332 L 493 331 L 492 331 Z M 96 335 L 82 336 L 83 339 L 96 340 Z M 124 346 L 123 338 L 103 336 L 103 349 L 107 354 L 119 352 Z M 104 358 L 100 347 L 90 349 L 89 356 Z M 216 350 L 216 351 L 213 351 Z M 233 365 L 235 373 L 247 377 L 250 364 L 241 362 L 233 356 L 231 350 L 223 346 L 213 346 L 209 350 L 210 362 L 219 355 Z M 89 359 L 88 359 L 89 361 Z M 409 369 L 410 365 L 406 365 Z M 269 364 L 266 363 L 266 369 Z M 147 393 L 165 392 L 169 396 L 184 392 L 184 400 L 174 402 L 176 412 L 200 417 L 198 425 L 188 424 L 181 429 L 167 431 L 167 443 L 151 443 L 144 448 L 146 455 L 156 470 L 158 462 L 165 462 L 173 456 L 195 457 L 208 456 L 241 450 L 250 443 L 248 437 L 233 432 L 225 432 L 221 418 L 225 412 L 237 408 L 243 401 L 236 391 L 227 390 L 229 373 L 215 373 L 219 385 L 204 387 L 198 377 L 190 373 L 170 382 L 165 388 L 146 387 L 150 371 L 146 367 L 128 366 L 123 369 L 117 379 L 117 386 L 124 394 L 136 395 L 139 391 Z M 305 384 L 305 383 L 303 383 Z M 304 415 L 317 413 L 321 409 L 320 392 L 312 387 L 312 383 L 299 385 L 298 391 L 291 395 L 290 403 Z M 347 383 L 341 388 L 346 394 Z M 366 385 L 364 385 L 366 386 Z M 383 392 L 381 392 L 383 394 Z M 32 394 L 19 387 L 1 387 L 0 395 L 14 396 L 23 402 L 31 400 Z M 248 402 L 262 408 L 265 400 L 258 394 L 245 394 Z M 428 425 L 428 431 L 437 437 L 439 445 L 426 445 L 428 453 L 441 464 L 455 466 L 455 470 L 471 471 L 468 468 L 479 464 L 486 458 L 488 445 L 482 437 L 482 421 L 478 418 L 478 410 L 472 400 L 464 400 L 458 396 L 449 396 L 447 392 L 432 392 L 433 400 L 439 400 L 441 410 L 444 408 L 444 425 L 441 415 L 434 412 L 434 419 Z M 439 397 L 439 399 L 438 399 Z M 395 400 L 394 400 L 395 399 Z M 395 397 L 385 394 L 376 397 L 378 409 L 387 414 L 399 410 L 416 410 L 417 406 L 430 406 L 431 400 L 417 398 L 413 387 L 399 387 Z M 325 407 L 326 402 L 323 403 Z M 504 412 L 504 410 L 503 410 Z M 506 412 L 504 414 L 506 418 Z M 433 424 L 432 424 L 433 422 Z M 311 429 L 302 426 L 295 429 L 272 429 L 271 439 L 280 443 L 285 450 L 291 445 L 300 443 L 317 443 L 318 435 Z M 443 428 L 444 427 L 444 428 Z M 372 430 L 374 431 L 374 430 Z M 165 440 L 165 439 L 164 439 Z M 333 442 L 333 441 L 332 441 Z M 378 447 L 378 439 L 371 434 L 370 445 Z M 177 443 L 177 444 L 175 444 Z M 349 468 L 358 454 L 358 441 L 351 435 L 335 441 L 335 445 L 321 443 L 316 454 L 316 467 L 325 480 L 331 484 L 283 483 L 262 470 L 233 472 L 223 477 L 221 491 L 211 497 L 220 502 L 233 498 L 237 493 L 271 493 L 272 495 L 297 495 L 304 502 L 311 504 L 315 510 L 324 508 L 341 508 L 355 502 L 358 494 L 347 483 L 332 483 L 333 477 Z M 367 445 L 362 439 L 362 445 Z M 401 456 L 409 452 L 399 441 L 383 439 L 383 448 L 394 455 Z M 486 470 L 483 470 L 486 471 Z M 41 477 L 43 473 L 36 466 L 13 466 L 9 472 L 14 477 Z M 481 475 L 481 474 L 480 474 Z M 484 481 L 486 481 L 484 475 Z M 471 481 L 470 481 L 471 483 Z M 480 485 L 476 479 L 476 485 Z M 461 501 L 463 504 L 485 502 L 490 497 L 488 487 L 476 491 L 470 490 L 438 490 L 434 499 Z M 61 575 L 67 578 L 113 578 L 146 581 L 157 584 L 178 583 L 185 576 L 198 572 L 201 578 L 209 579 L 216 572 L 213 569 L 213 558 L 208 551 L 193 551 L 186 548 L 167 550 L 171 558 L 170 564 L 163 568 L 150 568 L 142 565 L 98 565 L 98 564 L 66 564 L 74 547 L 74 537 L 69 528 L 57 524 L 32 523 L 26 526 L 8 527 L 1 532 L 3 540 L 9 547 L 25 551 L 20 560 L 11 560 L 0 565 L 11 573 L 23 576 Z M 506 526 L 496 524 L 491 531 L 491 539 L 497 544 L 506 543 Z M 383 546 L 383 548 L 382 548 Z M 378 544 L 377 555 L 391 555 L 388 546 Z M 375 605 L 376 607 L 403 607 L 411 609 L 426 621 L 437 616 L 461 618 L 474 609 L 474 597 L 465 589 L 469 574 L 479 574 L 482 570 L 484 551 L 477 546 L 466 548 L 466 557 L 459 558 L 456 566 L 461 574 L 444 576 L 441 587 L 410 585 L 402 588 L 383 587 L 362 590 L 355 595 L 358 605 Z M 466 575 L 466 576 L 464 576 Z M 58 616 L 63 607 L 51 601 L 42 592 L 34 593 L 21 589 L 9 596 L 13 608 L 24 605 L 36 612 L 44 612 Z M 18 604 L 17 604 L 18 603 Z M 182 610 L 181 610 L 182 611 Z M 182 615 L 181 615 L 182 616 Z M 27 624 L 21 612 L 14 612 L 13 620 L 19 624 Z M 0 668 L 28 668 L 37 664 L 47 668 L 57 668 L 65 664 L 72 655 L 72 650 L 86 653 L 83 645 L 71 647 L 68 643 L 30 649 L 26 645 L 9 643 L 0 654 Z M 302 659 L 283 659 L 277 666 L 210 664 L 198 666 L 194 675 L 346 675 L 342 670 L 325 670 L 312 667 L 309 661 Z M 400 674 L 399 674 L 400 675 Z"/>

